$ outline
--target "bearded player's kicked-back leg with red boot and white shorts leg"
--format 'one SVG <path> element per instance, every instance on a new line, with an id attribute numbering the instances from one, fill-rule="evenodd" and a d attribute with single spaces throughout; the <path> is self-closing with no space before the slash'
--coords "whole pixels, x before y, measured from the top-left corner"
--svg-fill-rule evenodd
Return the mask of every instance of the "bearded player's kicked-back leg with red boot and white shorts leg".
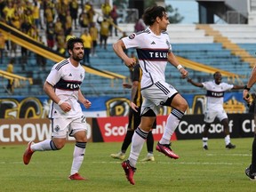
<path id="1" fill-rule="evenodd" d="M 69 123 L 67 119 L 52 119 L 52 140 L 47 139 L 38 143 L 28 142 L 28 147 L 23 154 L 23 163 L 29 164 L 35 151 L 59 150 L 63 148 L 66 143 Z"/>

